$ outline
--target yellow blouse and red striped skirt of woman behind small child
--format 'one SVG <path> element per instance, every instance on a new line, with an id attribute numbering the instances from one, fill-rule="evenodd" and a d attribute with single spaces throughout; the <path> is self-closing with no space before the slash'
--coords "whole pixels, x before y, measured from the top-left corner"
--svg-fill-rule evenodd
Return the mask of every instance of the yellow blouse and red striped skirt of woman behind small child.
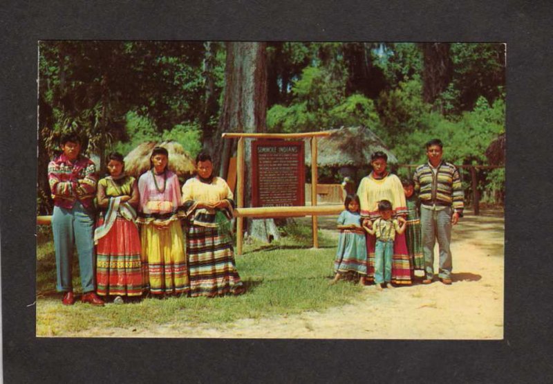
<path id="1" fill-rule="evenodd" d="M 378 202 L 388 200 L 392 203 L 395 216 L 407 214 L 405 192 L 400 179 L 395 174 L 387 174 L 377 179 L 373 173 L 365 176 L 357 189 L 361 216 L 375 221 L 380 217 Z M 367 235 L 367 280 L 373 281 L 375 275 L 375 245 L 374 235 Z M 411 284 L 411 260 L 405 242 L 405 232 L 396 235 L 393 244 L 392 282 L 395 284 Z"/>

